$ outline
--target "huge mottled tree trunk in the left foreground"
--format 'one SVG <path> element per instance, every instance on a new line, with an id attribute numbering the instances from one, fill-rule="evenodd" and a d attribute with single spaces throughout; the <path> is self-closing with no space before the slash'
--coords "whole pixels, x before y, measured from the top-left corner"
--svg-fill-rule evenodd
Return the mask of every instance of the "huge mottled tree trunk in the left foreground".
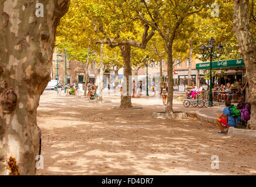
<path id="1" fill-rule="evenodd" d="M 0 1 L 0 175 L 33 175 L 39 154 L 37 106 L 50 81 L 56 27 L 68 0 Z"/>

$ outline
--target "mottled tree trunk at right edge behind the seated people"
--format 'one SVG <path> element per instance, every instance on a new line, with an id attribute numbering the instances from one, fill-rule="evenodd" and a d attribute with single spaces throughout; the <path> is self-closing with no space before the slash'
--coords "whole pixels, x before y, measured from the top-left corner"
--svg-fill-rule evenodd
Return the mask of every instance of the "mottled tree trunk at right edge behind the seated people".
<path id="1" fill-rule="evenodd" d="M 251 104 L 251 120 L 248 128 L 256 129 L 256 43 L 249 24 L 248 4 L 248 0 L 234 0 L 233 19 L 249 82 L 248 103 Z"/>

